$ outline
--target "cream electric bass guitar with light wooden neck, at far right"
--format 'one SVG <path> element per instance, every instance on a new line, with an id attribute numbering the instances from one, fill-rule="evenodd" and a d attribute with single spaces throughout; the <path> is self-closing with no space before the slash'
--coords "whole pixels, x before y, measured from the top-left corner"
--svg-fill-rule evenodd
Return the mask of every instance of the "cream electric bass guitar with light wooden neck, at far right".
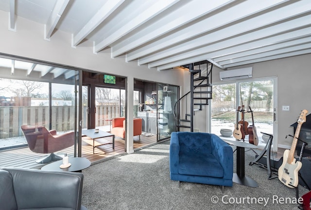
<path id="1" fill-rule="evenodd" d="M 284 151 L 283 163 L 278 168 L 278 179 L 289 188 L 297 187 L 299 182 L 298 171 L 301 169 L 302 164 L 300 161 L 296 162 L 296 159 L 294 158 L 294 153 L 296 150 L 301 125 L 304 122 L 306 122 L 307 113 L 308 113 L 307 110 L 303 110 L 301 112 L 299 119 L 297 121 L 298 125 L 294 135 L 291 150 Z"/>

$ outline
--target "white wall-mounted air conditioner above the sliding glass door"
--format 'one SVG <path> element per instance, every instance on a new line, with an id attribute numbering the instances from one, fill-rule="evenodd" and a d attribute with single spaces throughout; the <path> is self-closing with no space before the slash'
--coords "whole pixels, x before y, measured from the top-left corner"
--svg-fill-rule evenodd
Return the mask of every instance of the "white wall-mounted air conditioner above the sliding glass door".
<path id="1" fill-rule="evenodd" d="M 253 67 L 247 67 L 242 69 L 226 70 L 219 72 L 220 80 L 235 80 L 245 79 L 252 77 Z"/>

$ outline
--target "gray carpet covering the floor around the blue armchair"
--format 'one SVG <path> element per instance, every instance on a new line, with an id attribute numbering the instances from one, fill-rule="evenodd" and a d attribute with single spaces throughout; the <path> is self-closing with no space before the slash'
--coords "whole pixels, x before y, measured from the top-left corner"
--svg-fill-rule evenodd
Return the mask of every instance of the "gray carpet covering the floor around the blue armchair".
<path id="1" fill-rule="evenodd" d="M 178 188 L 178 182 L 170 179 L 169 144 L 165 141 L 83 170 L 82 204 L 88 210 L 298 210 L 291 204 L 294 189 L 278 178 L 268 180 L 267 170 L 258 165 L 248 165 L 253 151 L 245 153 L 245 174 L 259 183 L 258 188 L 233 183 L 222 193 L 219 186 L 185 182 Z M 299 187 L 300 196 L 306 192 Z M 213 196 L 219 199 L 216 204 Z M 267 204 L 263 199 L 269 199 Z"/>

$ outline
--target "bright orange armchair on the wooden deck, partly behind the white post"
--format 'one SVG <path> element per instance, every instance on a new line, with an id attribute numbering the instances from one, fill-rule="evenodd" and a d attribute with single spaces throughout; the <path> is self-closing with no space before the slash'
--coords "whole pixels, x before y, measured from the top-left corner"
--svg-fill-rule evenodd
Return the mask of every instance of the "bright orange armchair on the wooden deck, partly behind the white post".
<path id="1" fill-rule="evenodd" d="M 140 135 L 142 131 L 142 119 L 134 118 L 133 119 L 133 136 Z M 125 138 L 125 117 L 116 117 L 112 119 L 111 125 L 111 134 L 119 136 L 121 138 Z"/>

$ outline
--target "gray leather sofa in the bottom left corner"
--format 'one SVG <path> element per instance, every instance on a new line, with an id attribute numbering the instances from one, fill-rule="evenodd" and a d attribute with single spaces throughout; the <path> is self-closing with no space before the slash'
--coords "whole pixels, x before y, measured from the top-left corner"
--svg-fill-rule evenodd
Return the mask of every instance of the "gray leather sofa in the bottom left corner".
<path id="1" fill-rule="evenodd" d="M 83 173 L 1 168 L 1 210 L 86 210 Z"/>

